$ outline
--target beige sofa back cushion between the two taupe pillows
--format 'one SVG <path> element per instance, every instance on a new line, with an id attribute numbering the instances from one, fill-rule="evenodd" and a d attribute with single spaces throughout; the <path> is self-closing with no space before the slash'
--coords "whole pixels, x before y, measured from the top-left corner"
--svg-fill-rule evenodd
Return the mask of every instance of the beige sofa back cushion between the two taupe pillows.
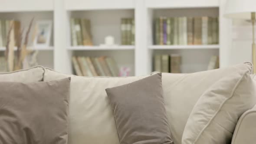
<path id="1" fill-rule="evenodd" d="M 70 76 L 69 144 L 120 144 L 105 89 L 147 76 L 82 77 L 46 69 L 44 81 Z"/>

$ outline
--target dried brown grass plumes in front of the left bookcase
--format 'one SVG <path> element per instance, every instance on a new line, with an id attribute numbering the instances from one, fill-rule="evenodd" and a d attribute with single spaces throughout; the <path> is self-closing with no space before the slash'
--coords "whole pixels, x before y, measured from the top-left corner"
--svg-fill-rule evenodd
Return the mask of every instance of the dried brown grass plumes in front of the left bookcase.
<path id="1" fill-rule="evenodd" d="M 17 39 L 16 39 L 16 46 L 17 46 L 17 51 L 14 53 L 14 47 L 15 47 L 15 36 L 14 36 L 14 21 L 10 21 L 10 29 L 7 34 L 7 43 L 6 43 L 6 50 L 5 50 L 5 59 L 7 62 L 7 71 L 11 72 L 13 70 L 19 70 L 22 69 L 22 62 L 29 54 L 30 52 L 26 49 L 27 44 L 28 44 L 28 39 L 29 39 L 29 33 L 30 29 L 32 26 L 34 18 L 30 21 L 30 25 L 26 31 L 26 36 L 23 41 L 23 30 L 20 30 L 18 33 Z M 34 39 L 34 37 L 33 37 Z M 16 56 L 15 56 L 16 55 Z"/>

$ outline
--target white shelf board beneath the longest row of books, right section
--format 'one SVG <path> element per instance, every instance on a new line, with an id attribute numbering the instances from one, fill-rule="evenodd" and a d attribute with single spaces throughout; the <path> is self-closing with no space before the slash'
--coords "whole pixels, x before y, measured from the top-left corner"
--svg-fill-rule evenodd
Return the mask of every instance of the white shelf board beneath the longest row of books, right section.
<path id="1" fill-rule="evenodd" d="M 219 45 L 152 45 L 148 49 L 220 49 Z"/>

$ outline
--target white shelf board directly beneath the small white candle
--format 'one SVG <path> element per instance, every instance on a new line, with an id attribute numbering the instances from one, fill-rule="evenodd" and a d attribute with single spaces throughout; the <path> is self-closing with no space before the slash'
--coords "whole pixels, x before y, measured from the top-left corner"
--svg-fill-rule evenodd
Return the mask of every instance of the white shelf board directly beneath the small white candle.
<path id="1" fill-rule="evenodd" d="M 71 46 L 69 50 L 129 50 L 135 46 Z"/>

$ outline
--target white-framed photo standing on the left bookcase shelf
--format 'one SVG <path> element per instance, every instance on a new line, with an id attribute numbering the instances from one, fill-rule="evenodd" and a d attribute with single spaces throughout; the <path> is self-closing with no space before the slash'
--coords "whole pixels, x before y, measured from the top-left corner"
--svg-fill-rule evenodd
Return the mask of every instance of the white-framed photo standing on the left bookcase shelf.
<path id="1" fill-rule="evenodd" d="M 37 47 L 49 46 L 51 34 L 52 34 L 51 20 L 37 21 L 34 46 L 37 46 Z"/>

